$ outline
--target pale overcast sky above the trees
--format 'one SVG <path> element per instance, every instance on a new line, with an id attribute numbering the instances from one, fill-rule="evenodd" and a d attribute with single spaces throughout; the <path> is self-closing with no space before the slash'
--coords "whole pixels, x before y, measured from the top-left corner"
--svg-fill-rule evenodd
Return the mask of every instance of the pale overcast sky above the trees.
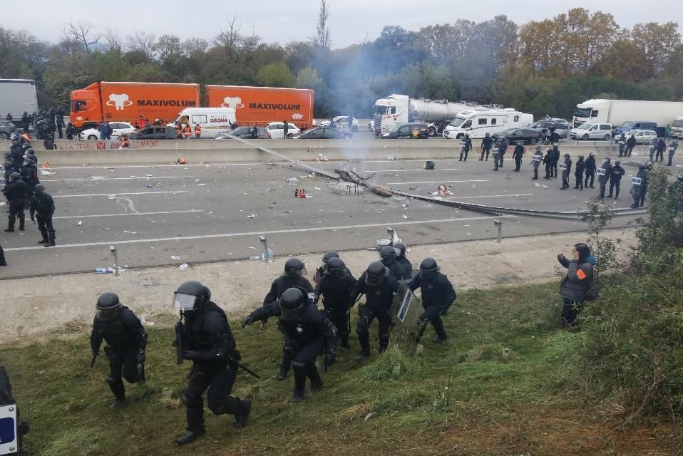
<path id="1" fill-rule="evenodd" d="M 610 12 L 617 24 L 632 27 L 640 22 L 676 21 L 683 18 L 683 1 L 642 0 L 575 1 L 568 6 L 560 1 L 538 0 L 328 0 L 332 48 L 344 48 L 364 40 L 372 41 L 385 25 L 399 25 L 408 30 L 423 26 L 452 23 L 458 19 L 481 22 L 505 14 L 517 24 L 552 18 L 581 6 L 590 11 Z M 197 36 L 210 40 L 227 27 L 227 20 L 237 17 L 241 33 L 256 33 L 267 43 L 307 41 L 315 32 L 320 0 L 294 1 L 180 1 L 156 0 L 112 2 L 98 1 L 86 6 L 75 0 L 32 0 L 33 13 L 28 21 L 16 24 L 16 16 L 3 15 L 3 28 L 25 28 L 34 36 L 56 43 L 69 21 L 87 21 L 93 31 L 104 33 L 107 27 L 121 38 L 138 31 L 156 36 L 175 34 L 180 38 Z M 682 24 L 683 25 L 683 24 Z M 30 27 L 30 28 L 27 28 Z M 679 31 L 683 28 L 679 26 Z"/>

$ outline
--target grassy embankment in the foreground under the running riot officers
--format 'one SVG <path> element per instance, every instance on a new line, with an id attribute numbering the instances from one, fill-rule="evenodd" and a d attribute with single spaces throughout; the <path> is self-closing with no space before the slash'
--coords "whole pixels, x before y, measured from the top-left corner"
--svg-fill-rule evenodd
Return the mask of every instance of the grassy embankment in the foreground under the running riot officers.
<path id="1" fill-rule="evenodd" d="M 175 365 L 173 328 L 150 328 L 148 382 L 128 385 L 130 402 L 111 411 L 106 359 L 88 368 L 88 338 L 2 347 L 37 455 L 673 455 L 667 423 L 631 425 L 605 405 L 585 403 L 582 333 L 558 329 L 557 283 L 466 291 L 446 320 L 453 336 L 413 356 L 393 346 L 356 363 L 339 355 L 325 388 L 287 405 L 291 375 L 274 379 L 281 354 L 274 322 L 260 336 L 232 321 L 242 361 L 262 380 L 240 375 L 234 395 L 255 400 L 250 423 L 207 410 L 207 434 L 179 448 L 179 402 L 190 363 Z M 220 297 L 218 297 L 220 301 Z M 375 323 L 376 325 L 376 323 Z M 376 334 L 376 326 L 372 327 Z M 510 361 L 501 359 L 510 348 Z M 400 364 L 398 376 L 392 373 Z M 369 413 L 376 418 L 364 420 Z"/>

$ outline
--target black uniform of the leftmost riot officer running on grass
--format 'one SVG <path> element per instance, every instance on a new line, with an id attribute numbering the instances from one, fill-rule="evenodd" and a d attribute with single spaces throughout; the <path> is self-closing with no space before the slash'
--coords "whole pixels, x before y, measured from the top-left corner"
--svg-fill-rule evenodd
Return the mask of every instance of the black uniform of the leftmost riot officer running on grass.
<path id="1" fill-rule="evenodd" d="M 104 353 L 109 360 L 109 376 L 106 378 L 111 392 L 118 400 L 125 398 L 123 380 L 135 383 L 138 378 L 139 355 L 145 353 L 147 347 L 147 331 L 133 311 L 121 306 L 118 315 L 108 321 L 99 316 L 93 320 L 93 331 L 90 335 L 90 346 L 93 355 L 100 351 L 102 341 L 106 341 Z"/>

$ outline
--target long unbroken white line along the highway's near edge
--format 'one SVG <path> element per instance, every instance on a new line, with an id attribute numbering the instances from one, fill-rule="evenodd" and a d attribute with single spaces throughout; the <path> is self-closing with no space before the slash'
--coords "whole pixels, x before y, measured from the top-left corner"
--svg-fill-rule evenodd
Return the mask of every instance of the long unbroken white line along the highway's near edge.
<path id="1" fill-rule="evenodd" d="M 469 222 L 471 220 L 490 220 L 490 219 L 500 219 L 500 218 L 514 218 L 516 215 L 501 215 L 501 216 L 485 216 L 485 217 L 467 217 L 463 219 L 436 219 L 436 220 L 413 220 L 411 222 L 389 222 L 389 223 L 369 223 L 361 225 L 346 225 L 341 227 L 316 227 L 316 228 L 299 228 L 299 229 L 276 229 L 272 231 L 254 231 L 254 232 L 242 232 L 242 233 L 225 233 L 225 234 L 202 234 L 200 236 L 175 236 L 175 237 L 157 237 L 153 239 L 130 239 L 126 241 L 106 241 L 106 242 L 86 242 L 83 244 L 57 244 L 51 249 L 67 249 L 69 247 L 94 247 L 98 245 L 115 245 L 115 244 L 140 244 L 143 242 L 165 242 L 165 241 L 186 241 L 188 239 L 211 239 L 220 237 L 239 237 L 239 236 L 257 236 L 260 234 L 287 234 L 287 233 L 302 233 L 302 232 L 316 232 L 316 231 L 329 231 L 336 229 L 357 229 L 357 228 L 376 228 L 376 227 L 394 227 L 401 225 L 417 225 L 417 224 L 428 224 L 428 223 L 448 223 L 448 222 Z M 5 249 L 5 252 L 16 252 L 19 250 L 42 250 L 43 246 L 38 247 L 15 247 L 11 249 Z"/>

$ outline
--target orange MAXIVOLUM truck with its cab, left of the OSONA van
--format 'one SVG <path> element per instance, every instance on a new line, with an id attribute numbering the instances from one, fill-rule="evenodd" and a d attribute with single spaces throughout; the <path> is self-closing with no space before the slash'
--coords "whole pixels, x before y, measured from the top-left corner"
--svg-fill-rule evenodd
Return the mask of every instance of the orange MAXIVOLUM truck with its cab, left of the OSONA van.
<path id="1" fill-rule="evenodd" d="M 102 120 L 138 125 L 140 115 L 153 122 L 171 121 L 185 108 L 199 107 L 199 84 L 92 83 L 71 92 L 71 123 L 97 128 Z"/>

